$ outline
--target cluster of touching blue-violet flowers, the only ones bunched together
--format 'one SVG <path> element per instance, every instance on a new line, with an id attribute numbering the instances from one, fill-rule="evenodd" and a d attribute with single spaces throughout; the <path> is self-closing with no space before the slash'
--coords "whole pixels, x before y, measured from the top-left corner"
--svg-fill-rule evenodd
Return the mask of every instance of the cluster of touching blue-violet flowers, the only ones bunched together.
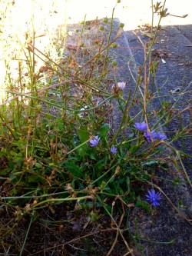
<path id="1" fill-rule="evenodd" d="M 147 138 L 147 141 L 148 142 L 151 142 L 151 141 L 155 141 L 156 139 L 157 140 L 160 140 L 160 141 L 164 141 L 167 139 L 167 136 L 164 135 L 162 132 L 156 132 L 156 131 L 149 131 L 147 130 L 147 124 L 145 121 L 141 122 L 141 123 L 135 123 L 134 125 L 135 128 L 137 128 L 137 130 L 139 131 L 146 131 L 144 132 L 144 137 Z"/>

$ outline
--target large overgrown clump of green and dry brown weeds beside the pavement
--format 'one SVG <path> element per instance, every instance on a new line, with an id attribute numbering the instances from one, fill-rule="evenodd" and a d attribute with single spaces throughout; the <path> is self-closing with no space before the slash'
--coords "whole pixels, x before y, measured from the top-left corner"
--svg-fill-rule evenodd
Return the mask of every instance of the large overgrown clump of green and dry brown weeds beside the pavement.
<path id="1" fill-rule="evenodd" d="M 9 2 L 4 6 L 9 14 L 12 5 Z M 160 22 L 166 16 L 164 6 L 155 5 L 154 12 L 160 14 Z M 2 20 L 6 21 L 6 17 Z M 115 246 L 118 248 L 120 236 L 125 245 L 122 251 L 133 254 L 133 236 L 124 220 L 133 208 L 143 208 L 149 214 L 154 211 L 151 204 L 161 204 L 160 194 L 166 198 L 158 186 L 161 177 L 157 172 L 168 171 L 167 164 L 174 162 L 190 184 L 182 161 L 189 155 L 170 145 L 168 135 L 161 131 L 171 120 L 171 108 L 166 102 L 162 104 L 157 113 L 160 121 L 153 121 L 151 111 L 157 96 L 157 92 L 149 90 L 149 81 L 157 68 L 157 62 L 151 61 L 151 49 L 160 23 L 155 33 L 151 30 L 148 52 L 144 46 L 145 61 L 137 70 L 135 91 L 128 91 L 127 95 L 126 81 L 117 80 L 118 63 L 110 55 L 123 25 L 111 38 L 112 23 L 113 15 L 111 19 L 104 18 L 102 25 L 98 20 L 90 24 L 84 19 L 74 29 L 71 40 L 67 30 L 62 34 L 63 27 L 58 27 L 56 35 L 48 34 L 48 28 L 39 34 L 32 16 L 31 27 L 22 38 L 22 34 L 13 33 L 7 38 L 2 33 L 2 252 L 11 248 L 12 254 L 41 254 L 42 243 L 35 248 L 28 241 L 30 235 L 31 241 L 37 242 L 37 227 L 45 236 L 45 251 L 57 250 L 61 244 L 54 245 L 55 238 L 72 227 L 70 239 L 65 235 L 58 255 L 78 250 L 79 255 L 88 251 L 94 254 L 96 244 L 90 237 L 103 239 L 103 234 L 108 233 L 114 239 L 114 231 L 114 242 L 95 253 L 104 250 L 106 255 L 111 254 Z M 39 48 L 36 41 L 44 33 L 54 40 Z M 139 110 L 132 115 L 134 108 Z M 116 125 L 111 118 L 114 111 L 121 116 Z M 188 135 L 187 128 L 175 136 L 179 135 Z M 169 156 L 164 155 L 164 148 L 170 149 Z M 176 180 L 181 182 L 179 176 Z M 146 198 L 149 189 L 156 199 L 153 194 Z M 19 239 L 19 231 L 23 230 Z M 72 238 L 74 235 L 77 238 Z M 11 237 L 15 245 L 10 244 Z M 73 245 L 75 241 L 81 241 L 78 248 Z"/>

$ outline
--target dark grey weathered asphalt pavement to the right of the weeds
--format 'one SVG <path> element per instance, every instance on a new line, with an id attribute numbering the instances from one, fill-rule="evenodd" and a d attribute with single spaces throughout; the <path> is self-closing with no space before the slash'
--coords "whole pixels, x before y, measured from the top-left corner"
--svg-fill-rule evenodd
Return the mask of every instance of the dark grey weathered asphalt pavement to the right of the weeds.
<path id="1" fill-rule="evenodd" d="M 114 32 L 112 38 L 118 31 L 118 19 L 114 21 Z M 116 28 L 116 31 L 115 31 Z M 112 49 L 110 54 L 118 62 L 118 81 L 126 81 L 124 97 L 129 91 L 134 91 L 135 83 L 131 77 L 137 77 L 137 68 L 144 63 L 144 49 L 138 37 L 144 44 L 149 41 L 148 28 L 124 31 L 117 40 L 118 48 Z M 137 33 L 137 36 L 135 35 Z M 157 112 L 163 102 L 169 102 L 172 121 L 164 127 L 164 132 L 169 141 L 173 140 L 177 131 L 185 127 L 191 129 L 191 88 L 192 88 L 192 25 L 170 25 L 162 26 L 157 32 L 157 41 L 153 48 L 153 58 L 159 62 L 155 76 L 154 93 L 158 96 L 153 101 L 153 111 Z M 129 63 L 129 67 L 127 65 Z M 150 84 L 150 90 L 152 90 Z M 132 114 L 138 112 L 133 108 Z M 180 115 L 178 115 L 180 114 Z M 161 118 L 161 115 L 158 116 Z M 157 120 L 157 119 L 156 119 Z M 121 121 L 118 108 L 114 110 L 114 126 Z M 162 120 L 166 121 L 166 120 Z M 171 142 L 175 148 L 185 151 L 191 155 L 191 134 L 178 138 Z M 169 155 L 170 151 L 164 151 Z M 191 161 L 184 161 L 187 173 L 190 176 Z M 174 185 L 170 180 L 174 180 L 173 174 L 180 176 L 179 185 Z M 163 178 L 161 189 L 167 197 L 179 208 L 180 213 L 172 207 L 170 201 L 164 198 L 163 203 L 157 209 L 158 214 L 147 215 L 141 209 L 135 208 L 133 216 L 137 218 L 137 225 L 141 235 L 141 244 L 144 246 L 144 255 L 147 256 L 191 256 L 190 241 L 192 240 L 191 220 L 191 188 L 184 181 L 182 175 L 177 173 L 174 165 L 170 165 L 169 170 L 159 171 L 158 175 Z M 190 176 L 191 177 L 191 176 Z M 180 202 L 182 204 L 179 206 Z M 181 215 L 184 214 L 182 217 Z M 129 224 L 133 224 L 131 221 Z M 153 241 L 153 242 L 150 242 Z M 174 241 L 173 243 L 170 241 Z M 140 253 L 135 255 L 141 255 Z"/>

